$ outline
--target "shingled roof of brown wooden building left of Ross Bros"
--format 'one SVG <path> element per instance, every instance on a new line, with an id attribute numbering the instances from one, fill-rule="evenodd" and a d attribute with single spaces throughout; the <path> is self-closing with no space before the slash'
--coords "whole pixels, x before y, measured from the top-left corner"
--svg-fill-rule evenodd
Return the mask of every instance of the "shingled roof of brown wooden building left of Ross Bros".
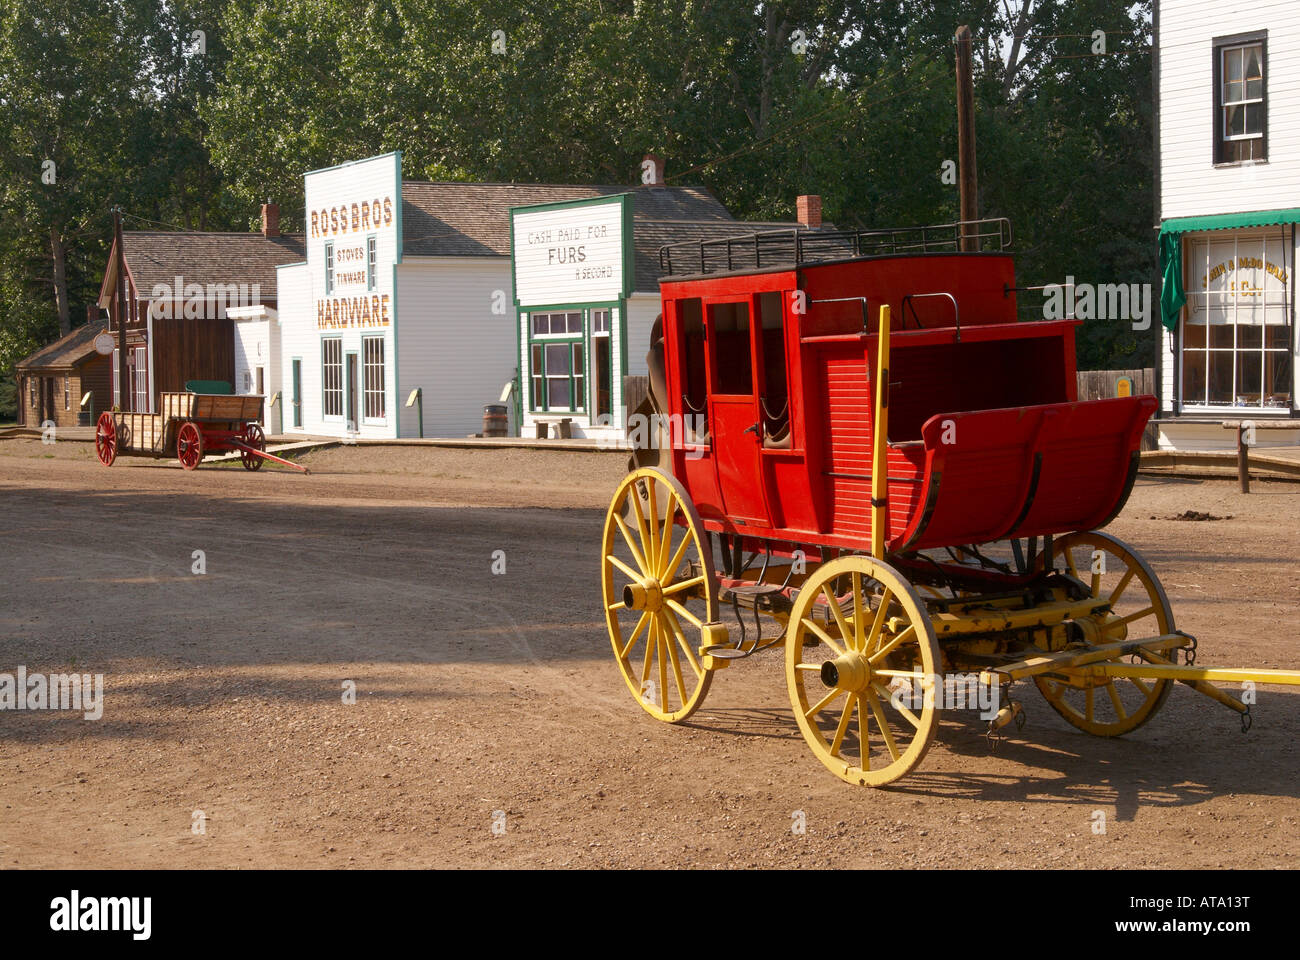
<path id="1" fill-rule="evenodd" d="M 276 299 L 276 267 L 307 258 L 303 237 L 263 237 L 260 233 L 199 233 L 198 230 L 127 230 L 122 233 L 126 269 L 140 297 L 155 284 L 257 284 L 263 300 Z M 100 290 L 107 306 L 117 278 L 110 256 Z"/>

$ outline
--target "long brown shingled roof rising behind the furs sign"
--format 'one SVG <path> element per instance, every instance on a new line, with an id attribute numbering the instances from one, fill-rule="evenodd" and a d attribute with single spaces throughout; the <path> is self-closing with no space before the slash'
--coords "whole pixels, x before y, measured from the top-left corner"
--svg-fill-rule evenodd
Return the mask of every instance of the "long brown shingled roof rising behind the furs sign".
<path id="1" fill-rule="evenodd" d="M 406 256 L 510 256 L 510 209 L 632 194 L 636 289 L 658 290 L 659 247 L 794 224 L 738 221 L 703 187 L 402 182 Z"/>

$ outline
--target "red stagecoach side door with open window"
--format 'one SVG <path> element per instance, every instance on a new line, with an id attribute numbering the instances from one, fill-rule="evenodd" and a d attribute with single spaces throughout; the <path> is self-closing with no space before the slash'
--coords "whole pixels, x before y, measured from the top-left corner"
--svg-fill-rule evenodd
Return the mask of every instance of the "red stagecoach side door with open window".
<path id="1" fill-rule="evenodd" d="M 737 526 L 768 526 L 763 498 L 763 427 L 754 377 L 754 324 L 749 299 L 706 303 L 710 343 L 710 429 L 718 489 Z"/>

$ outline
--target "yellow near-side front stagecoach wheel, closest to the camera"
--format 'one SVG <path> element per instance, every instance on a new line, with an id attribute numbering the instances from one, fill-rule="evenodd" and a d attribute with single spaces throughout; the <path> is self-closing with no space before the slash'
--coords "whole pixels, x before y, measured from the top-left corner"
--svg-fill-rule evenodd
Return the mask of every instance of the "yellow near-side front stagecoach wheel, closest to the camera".
<path id="1" fill-rule="evenodd" d="M 922 761 L 937 723 L 939 663 L 926 605 L 888 563 L 838 557 L 800 589 L 785 640 L 790 705 L 840 779 L 881 787 Z"/>

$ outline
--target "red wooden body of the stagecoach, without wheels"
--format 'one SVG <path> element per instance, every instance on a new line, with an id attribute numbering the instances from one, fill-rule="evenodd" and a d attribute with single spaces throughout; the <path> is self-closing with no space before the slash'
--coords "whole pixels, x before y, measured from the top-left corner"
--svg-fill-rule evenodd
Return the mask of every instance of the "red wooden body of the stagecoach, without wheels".
<path id="1" fill-rule="evenodd" d="M 675 444 L 672 468 L 705 526 L 870 546 L 883 304 L 889 552 L 1108 523 L 1156 399 L 1078 402 L 1078 321 L 1018 323 L 1014 285 L 1002 254 L 666 277 L 666 412 L 707 418 L 703 442 Z"/>

